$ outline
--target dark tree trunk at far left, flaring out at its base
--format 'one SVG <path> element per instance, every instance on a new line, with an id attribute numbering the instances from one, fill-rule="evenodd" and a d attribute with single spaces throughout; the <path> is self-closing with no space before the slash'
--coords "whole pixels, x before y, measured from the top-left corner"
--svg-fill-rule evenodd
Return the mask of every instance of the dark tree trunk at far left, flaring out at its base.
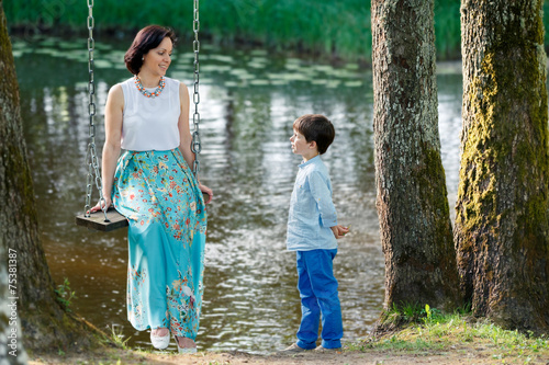
<path id="1" fill-rule="evenodd" d="M 0 272 L 9 265 L 9 273 L 15 274 L 10 276 L 15 281 L 10 283 L 9 297 L 16 298 L 13 300 L 26 349 L 67 351 L 87 346 L 96 343 L 90 334 L 97 332 L 59 305 L 40 241 L 19 105 L 19 84 L 0 0 L 0 244 L 1 251 L 10 254 L 2 254 Z M 2 281 L 2 285 L 5 283 Z M 5 298 L 2 296 L 2 300 Z M 3 321 L 0 323 L 3 326 Z"/>

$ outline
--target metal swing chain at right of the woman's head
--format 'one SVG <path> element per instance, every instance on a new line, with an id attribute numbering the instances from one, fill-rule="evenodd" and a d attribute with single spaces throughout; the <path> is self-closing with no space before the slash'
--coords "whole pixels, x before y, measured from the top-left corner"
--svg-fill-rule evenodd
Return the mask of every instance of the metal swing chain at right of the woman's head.
<path id="1" fill-rule="evenodd" d="M 200 30 L 200 21 L 199 21 L 199 0 L 194 0 L 194 12 L 193 12 L 193 22 L 192 22 L 192 31 L 194 32 L 194 42 L 192 42 L 192 49 L 194 52 L 194 93 L 192 95 L 192 101 L 194 102 L 194 113 L 192 114 L 192 123 L 194 125 L 194 132 L 192 133 L 192 144 L 191 150 L 194 152 L 194 162 L 192 164 L 192 172 L 194 176 L 198 179 L 200 171 L 200 161 L 199 153 L 202 150 L 202 145 L 200 142 L 200 113 L 199 113 L 199 103 L 200 103 L 200 93 L 199 93 L 199 81 L 200 81 L 200 64 L 199 64 L 199 52 L 200 52 L 200 41 L 199 41 L 199 30 Z"/>

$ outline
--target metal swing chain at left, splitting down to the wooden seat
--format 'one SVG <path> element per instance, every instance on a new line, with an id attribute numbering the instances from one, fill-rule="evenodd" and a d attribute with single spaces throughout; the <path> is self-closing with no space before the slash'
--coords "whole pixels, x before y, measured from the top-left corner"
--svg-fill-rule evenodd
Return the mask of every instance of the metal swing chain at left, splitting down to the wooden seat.
<path id="1" fill-rule="evenodd" d="M 88 112 L 90 118 L 90 139 L 88 142 L 88 152 L 86 155 L 86 161 L 88 163 L 88 179 L 86 185 L 86 205 L 83 207 L 85 217 L 89 217 L 91 209 L 91 192 L 93 184 L 93 175 L 96 176 L 96 187 L 99 191 L 99 203 L 101 204 L 101 208 L 104 214 L 105 221 L 109 221 L 107 218 L 107 209 L 108 206 L 105 204 L 105 199 L 103 197 L 102 182 L 101 182 L 101 173 L 99 171 L 99 163 L 96 150 L 96 124 L 93 123 L 93 117 L 96 115 L 96 82 L 93 80 L 93 49 L 96 47 L 96 41 L 93 39 L 93 0 L 88 0 L 88 72 L 89 72 L 89 82 L 88 82 Z"/>

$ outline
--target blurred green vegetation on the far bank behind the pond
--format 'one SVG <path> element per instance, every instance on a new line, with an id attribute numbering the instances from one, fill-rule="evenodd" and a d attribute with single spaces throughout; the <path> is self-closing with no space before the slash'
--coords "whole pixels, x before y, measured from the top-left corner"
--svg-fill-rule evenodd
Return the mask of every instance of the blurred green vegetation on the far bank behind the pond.
<path id="1" fill-rule="evenodd" d="M 549 24 L 549 2 L 545 2 Z M 88 8 L 77 0 L 8 1 L 12 32 L 87 32 Z M 94 1 L 97 32 L 124 35 L 145 24 L 173 27 L 182 37 L 192 34 L 192 2 Z M 202 37 L 220 44 L 261 44 L 271 49 L 314 54 L 325 58 L 371 61 L 370 1 L 363 0 L 209 0 L 200 3 Z M 435 0 L 438 60 L 460 57 L 460 2 Z M 546 37 L 546 47 L 549 41 Z"/>

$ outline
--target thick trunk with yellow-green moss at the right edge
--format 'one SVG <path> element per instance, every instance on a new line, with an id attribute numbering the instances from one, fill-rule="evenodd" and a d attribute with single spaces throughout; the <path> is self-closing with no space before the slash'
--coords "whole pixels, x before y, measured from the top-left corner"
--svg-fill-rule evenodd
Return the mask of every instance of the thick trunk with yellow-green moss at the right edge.
<path id="1" fill-rule="evenodd" d="M 542 0 L 462 0 L 463 130 L 455 240 L 477 316 L 549 330 Z"/>

